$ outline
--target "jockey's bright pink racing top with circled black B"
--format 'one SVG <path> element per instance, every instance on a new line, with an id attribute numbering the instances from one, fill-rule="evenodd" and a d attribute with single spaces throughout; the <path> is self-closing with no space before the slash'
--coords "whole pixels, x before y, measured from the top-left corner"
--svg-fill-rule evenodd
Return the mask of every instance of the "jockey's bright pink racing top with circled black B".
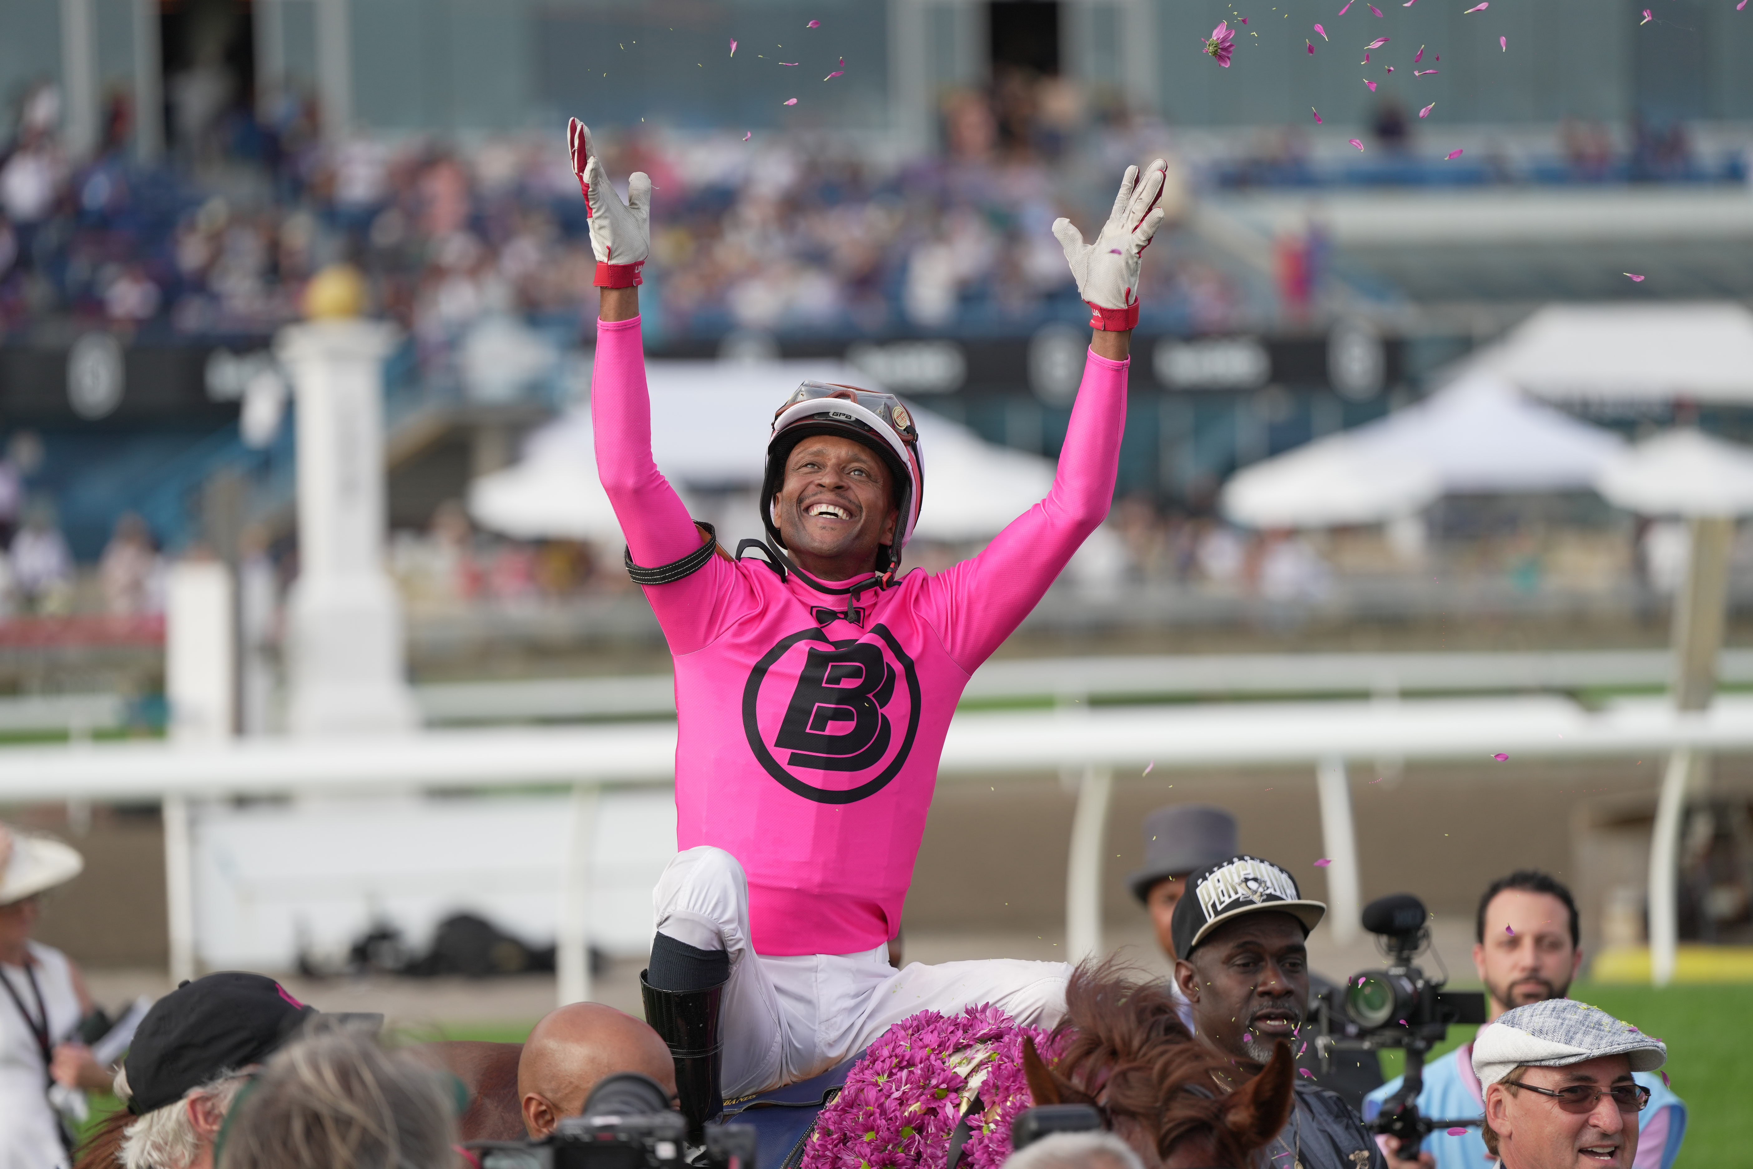
<path id="1" fill-rule="evenodd" d="M 947 571 L 847 596 L 713 556 L 645 589 L 675 657 L 677 845 L 742 862 L 759 953 L 859 953 L 894 936 L 962 687 L 1108 514 L 1125 375 L 1087 356 L 1052 491 Z M 792 389 L 773 386 L 773 401 Z M 652 463 L 636 317 L 598 322 L 591 415 L 633 563 L 698 549 Z"/>

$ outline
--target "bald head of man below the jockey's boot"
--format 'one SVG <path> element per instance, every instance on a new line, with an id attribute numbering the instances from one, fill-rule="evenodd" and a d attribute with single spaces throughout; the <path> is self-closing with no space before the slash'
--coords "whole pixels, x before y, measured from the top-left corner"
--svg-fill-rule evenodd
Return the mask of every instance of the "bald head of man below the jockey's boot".
<path id="1" fill-rule="evenodd" d="M 517 1059 L 517 1101 L 524 1130 L 545 1137 L 563 1116 L 577 1116 L 591 1090 L 621 1071 L 636 1071 L 675 1099 L 670 1046 L 645 1020 L 601 1003 L 563 1006 L 535 1025 Z"/>

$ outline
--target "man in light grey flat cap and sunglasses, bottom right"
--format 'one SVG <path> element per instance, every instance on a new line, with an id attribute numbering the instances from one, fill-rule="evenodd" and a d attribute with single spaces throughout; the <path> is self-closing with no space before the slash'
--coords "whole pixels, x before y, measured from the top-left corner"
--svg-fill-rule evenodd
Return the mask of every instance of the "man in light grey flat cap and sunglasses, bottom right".
<path id="1" fill-rule="evenodd" d="M 1632 1073 L 1667 1046 L 1597 1006 L 1546 999 L 1506 1011 L 1473 1043 L 1485 1146 L 1504 1169 L 1632 1169 L 1650 1088 Z"/>

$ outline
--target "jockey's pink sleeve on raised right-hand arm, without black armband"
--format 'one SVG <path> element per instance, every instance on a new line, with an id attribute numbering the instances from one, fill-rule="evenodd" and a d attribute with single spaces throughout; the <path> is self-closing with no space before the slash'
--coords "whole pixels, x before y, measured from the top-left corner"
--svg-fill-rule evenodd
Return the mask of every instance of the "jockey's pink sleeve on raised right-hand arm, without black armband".
<path id="1" fill-rule="evenodd" d="M 973 559 L 927 585 L 933 624 L 950 657 L 973 673 L 1034 608 L 1078 545 L 1108 517 L 1125 431 L 1125 372 L 1090 351 L 1059 471 L 1047 498 L 1010 522 Z M 931 492 L 931 449 L 926 447 Z"/>

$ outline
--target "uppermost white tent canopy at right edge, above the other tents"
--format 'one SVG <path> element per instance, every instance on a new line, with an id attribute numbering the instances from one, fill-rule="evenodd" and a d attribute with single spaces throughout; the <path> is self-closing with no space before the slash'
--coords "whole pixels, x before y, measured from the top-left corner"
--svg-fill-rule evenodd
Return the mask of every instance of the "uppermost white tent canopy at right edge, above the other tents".
<path id="1" fill-rule="evenodd" d="M 1753 403 L 1753 312 L 1732 301 L 1548 305 L 1485 361 L 1543 398 Z"/>

